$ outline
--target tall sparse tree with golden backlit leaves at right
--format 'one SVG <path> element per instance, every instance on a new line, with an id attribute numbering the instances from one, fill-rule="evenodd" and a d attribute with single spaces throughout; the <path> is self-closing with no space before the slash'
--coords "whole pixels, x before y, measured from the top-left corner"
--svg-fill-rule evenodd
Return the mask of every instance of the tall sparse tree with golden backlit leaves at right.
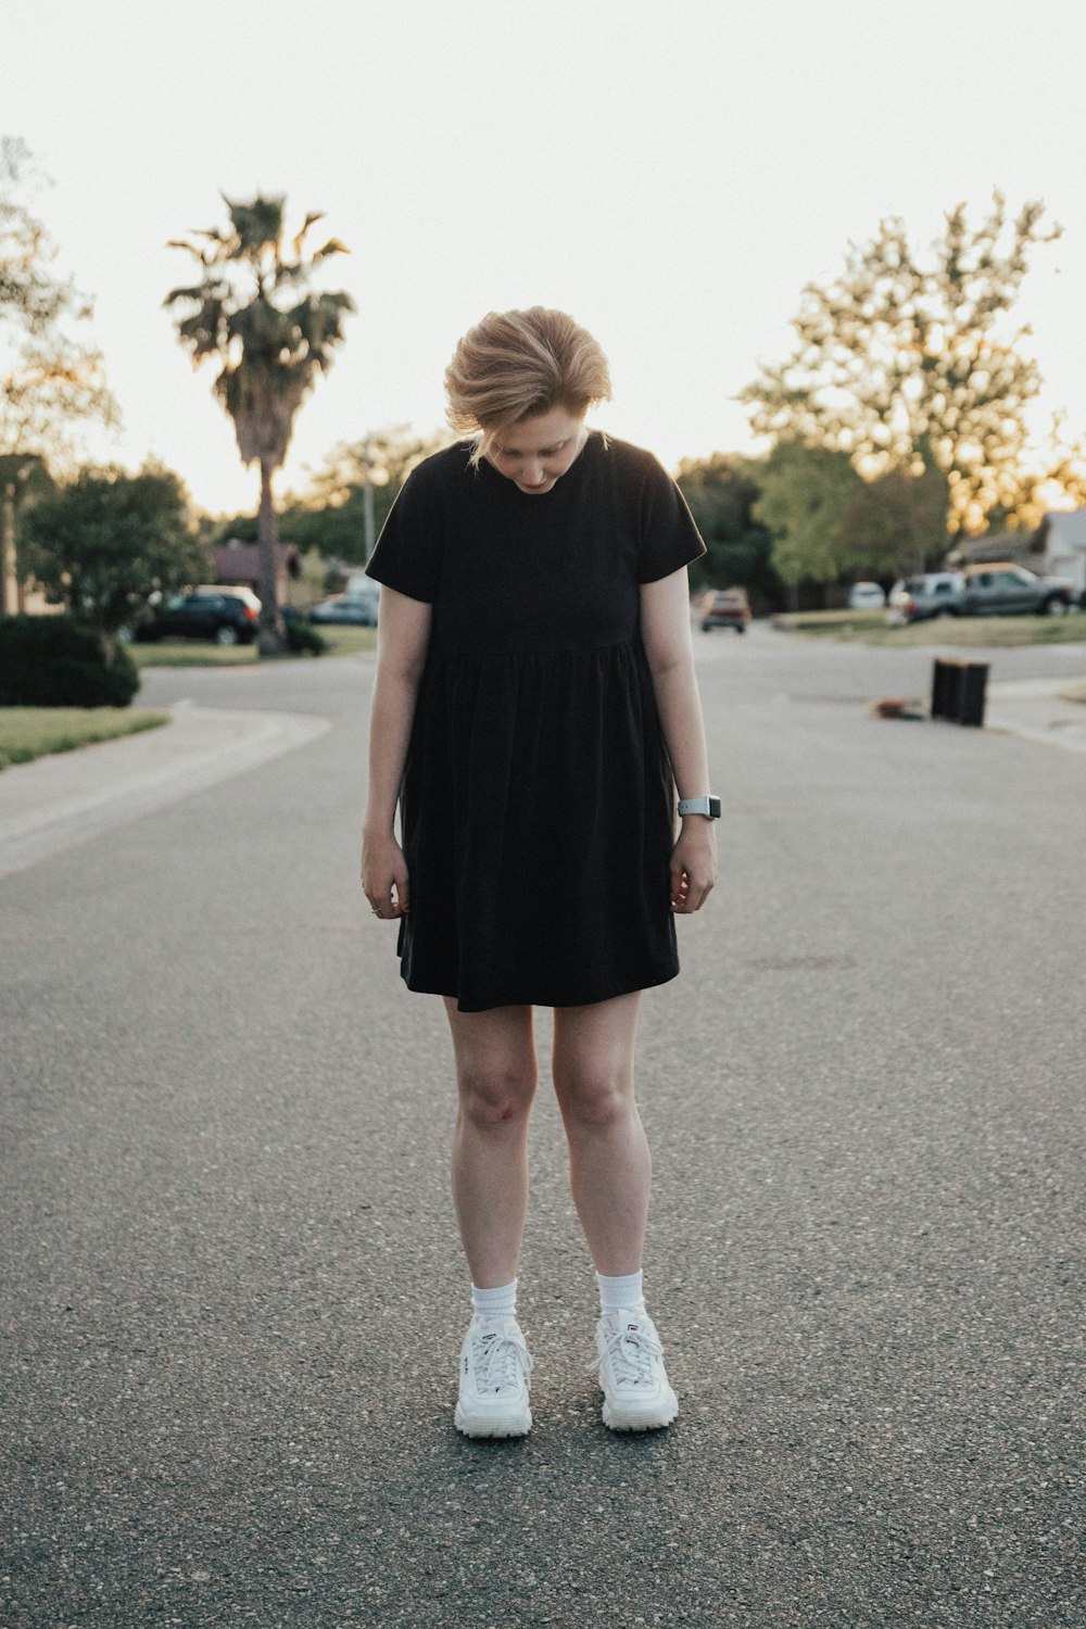
<path id="1" fill-rule="evenodd" d="M 926 259 L 904 222 L 881 222 L 840 277 L 804 288 L 796 349 L 742 393 L 754 428 L 845 453 L 866 477 L 939 471 L 954 531 L 1013 508 L 1040 375 L 1011 313 L 1031 252 L 1058 235 L 1042 215 L 1031 202 L 1011 220 L 996 192 L 970 226 L 959 204 Z"/>

